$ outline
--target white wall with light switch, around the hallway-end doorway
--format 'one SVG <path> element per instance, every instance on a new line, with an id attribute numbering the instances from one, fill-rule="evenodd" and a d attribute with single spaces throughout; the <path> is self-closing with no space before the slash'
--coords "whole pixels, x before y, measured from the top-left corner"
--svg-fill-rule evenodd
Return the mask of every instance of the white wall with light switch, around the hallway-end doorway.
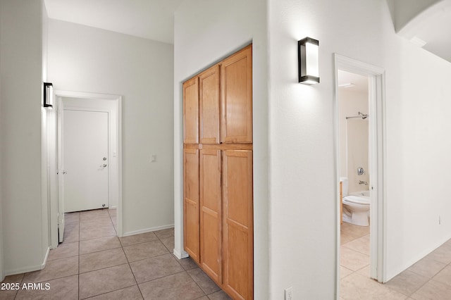
<path id="1" fill-rule="evenodd" d="M 48 77 L 55 89 L 123 96 L 123 234 L 171 227 L 173 46 L 51 19 Z"/>

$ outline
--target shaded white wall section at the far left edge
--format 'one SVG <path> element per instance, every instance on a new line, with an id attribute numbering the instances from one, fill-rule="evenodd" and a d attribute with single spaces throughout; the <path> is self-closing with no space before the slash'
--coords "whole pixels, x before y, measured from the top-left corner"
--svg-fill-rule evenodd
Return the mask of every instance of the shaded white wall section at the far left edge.
<path id="1" fill-rule="evenodd" d="M 49 248 L 41 180 L 42 6 L 42 1 L 0 2 L 1 225 L 6 274 L 42 268 Z"/>

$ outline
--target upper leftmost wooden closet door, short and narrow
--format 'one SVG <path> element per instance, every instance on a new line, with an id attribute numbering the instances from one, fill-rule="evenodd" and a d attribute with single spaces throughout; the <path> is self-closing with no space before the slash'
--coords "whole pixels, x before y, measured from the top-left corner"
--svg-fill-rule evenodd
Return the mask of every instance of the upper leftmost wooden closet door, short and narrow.
<path id="1" fill-rule="evenodd" d="M 183 143 L 199 143 L 199 78 L 183 83 Z"/>

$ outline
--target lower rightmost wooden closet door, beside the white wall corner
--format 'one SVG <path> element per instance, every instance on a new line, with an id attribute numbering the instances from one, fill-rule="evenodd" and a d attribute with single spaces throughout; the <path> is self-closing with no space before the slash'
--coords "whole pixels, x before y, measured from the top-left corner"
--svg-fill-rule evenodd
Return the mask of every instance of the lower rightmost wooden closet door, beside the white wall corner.
<path id="1" fill-rule="evenodd" d="M 252 151 L 223 151 L 223 285 L 233 299 L 254 294 Z"/>

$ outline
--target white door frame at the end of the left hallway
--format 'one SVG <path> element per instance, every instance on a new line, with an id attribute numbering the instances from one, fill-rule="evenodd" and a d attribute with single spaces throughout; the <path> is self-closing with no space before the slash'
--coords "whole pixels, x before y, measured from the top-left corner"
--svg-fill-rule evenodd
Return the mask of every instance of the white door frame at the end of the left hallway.
<path id="1" fill-rule="evenodd" d="M 68 97 L 68 98 L 76 98 L 76 99 L 99 99 L 99 100 L 108 100 L 108 101 L 114 101 L 114 104 L 116 106 L 117 111 L 117 149 L 116 149 L 116 156 L 118 158 L 118 208 L 117 208 L 117 221 L 118 221 L 118 227 L 117 227 L 117 233 L 118 237 L 121 237 L 123 235 L 122 230 L 122 96 L 119 95 L 112 95 L 112 94 L 97 94 L 97 93 L 85 93 L 85 92 L 70 92 L 70 91 L 61 91 L 56 90 L 54 91 L 54 96 L 56 99 L 56 109 L 58 109 L 58 104 L 61 105 L 62 98 Z M 59 118 L 59 116 L 58 116 Z M 61 149 L 61 140 L 58 139 L 57 142 L 58 149 Z M 59 152 L 59 151 L 57 151 Z M 58 166 L 58 170 L 59 170 Z M 58 179 L 56 178 L 56 181 Z M 58 185 L 58 182 L 54 182 L 55 185 Z M 58 194 L 60 194 L 60 191 L 58 191 Z M 51 240 L 57 241 L 58 240 L 58 199 L 51 201 Z M 63 221 L 62 221 L 63 222 Z M 56 235 L 56 236 L 55 236 Z M 52 244 L 52 246 L 54 246 Z"/>

